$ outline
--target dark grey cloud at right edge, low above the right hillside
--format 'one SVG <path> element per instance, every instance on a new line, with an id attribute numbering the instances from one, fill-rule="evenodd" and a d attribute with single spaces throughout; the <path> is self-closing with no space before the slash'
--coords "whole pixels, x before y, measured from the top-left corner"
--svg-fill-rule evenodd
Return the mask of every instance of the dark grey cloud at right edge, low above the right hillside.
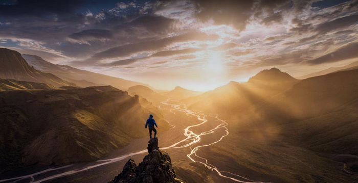
<path id="1" fill-rule="evenodd" d="M 352 59 L 358 57 L 358 42 L 350 43 L 348 45 L 342 46 L 337 50 L 321 56 L 319 58 L 307 61 L 310 65 L 328 63 L 328 62 L 338 62 L 341 60 Z"/>

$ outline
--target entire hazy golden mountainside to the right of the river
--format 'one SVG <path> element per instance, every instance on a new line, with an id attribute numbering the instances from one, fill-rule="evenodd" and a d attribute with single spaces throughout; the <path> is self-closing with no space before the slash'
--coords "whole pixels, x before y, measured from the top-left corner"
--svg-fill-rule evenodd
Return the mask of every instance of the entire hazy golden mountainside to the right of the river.
<path id="1" fill-rule="evenodd" d="M 357 173 L 358 69 L 292 81 L 277 91 L 230 82 L 185 101 L 228 120 L 230 135 L 210 149 L 228 162 L 288 182 L 354 182 L 340 172 Z"/>

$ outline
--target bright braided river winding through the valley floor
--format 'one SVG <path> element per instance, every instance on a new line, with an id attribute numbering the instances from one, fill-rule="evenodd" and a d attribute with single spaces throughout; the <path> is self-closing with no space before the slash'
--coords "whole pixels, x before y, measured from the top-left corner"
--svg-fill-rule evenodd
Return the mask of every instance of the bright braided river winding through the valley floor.
<path id="1" fill-rule="evenodd" d="M 167 100 L 167 101 L 162 102 L 162 104 L 161 104 L 161 106 L 159 106 L 159 108 L 161 108 L 163 110 L 170 111 L 173 114 L 184 113 L 189 117 L 197 118 L 197 120 L 199 121 L 198 124 L 190 125 L 190 126 L 187 126 L 184 128 L 184 133 L 183 133 L 185 136 L 184 139 L 178 140 L 177 142 L 175 142 L 169 146 L 160 147 L 160 149 L 165 150 L 165 149 L 187 148 L 187 149 L 190 149 L 187 152 L 187 157 L 188 157 L 187 161 L 192 161 L 194 163 L 202 164 L 205 167 L 207 167 L 210 171 L 215 171 L 220 177 L 222 177 L 224 179 L 231 179 L 236 182 L 262 182 L 262 181 L 255 181 L 255 180 L 245 178 L 245 177 L 237 174 L 237 172 L 234 173 L 234 172 L 221 171 L 215 165 L 208 162 L 208 160 L 205 157 L 199 156 L 196 154 L 198 149 L 218 143 L 223 138 L 225 138 L 226 136 L 229 135 L 229 129 L 227 128 L 228 123 L 225 120 L 218 118 L 218 115 L 216 115 L 216 114 L 205 114 L 200 111 L 188 110 L 184 103 L 178 103 L 178 102 L 172 101 L 172 100 Z M 211 119 L 210 121 L 208 120 L 209 117 Z M 210 127 L 202 127 L 206 123 L 210 123 L 210 122 L 214 122 L 214 121 L 215 121 L 214 125 L 210 125 Z M 167 121 L 167 122 L 172 126 L 171 129 L 176 128 L 176 126 L 172 125 L 170 123 L 170 121 Z M 193 128 L 195 128 L 195 129 L 199 128 L 202 130 L 194 130 Z M 178 129 L 176 129 L 176 130 L 178 130 Z M 181 130 L 183 130 L 183 129 L 181 129 Z M 196 131 L 199 131 L 199 132 L 196 132 Z M 214 140 L 211 140 L 209 138 L 205 139 L 207 137 L 207 135 L 215 134 L 215 133 L 218 133 L 218 134 L 216 134 L 216 137 L 218 137 L 218 138 L 216 138 Z M 205 139 L 205 141 L 203 142 L 204 139 Z M 77 166 L 77 168 L 75 168 L 75 169 L 73 168 L 73 166 L 75 164 L 51 167 L 51 168 L 40 170 L 37 172 L 32 172 L 31 174 L 27 174 L 27 175 L 13 176 L 13 177 L 7 177 L 6 179 L 0 179 L 0 182 L 39 183 L 39 182 L 44 182 L 44 181 L 55 180 L 57 178 L 73 175 L 76 173 L 85 174 L 85 171 L 94 169 L 96 167 L 106 166 L 106 165 L 113 164 L 113 163 L 119 162 L 119 161 L 127 161 L 128 158 L 130 158 L 133 155 L 143 154 L 146 152 L 147 152 L 147 149 L 140 150 L 137 152 L 127 153 L 127 154 L 122 154 L 122 155 L 119 155 L 119 156 L 117 156 L 115 158 L 111 158 L 111 159 L 101 159 L 101 160 L 94 162 L 91 166 L 84 166 L 81 168 L 78 168 L 78 166 Z M 60 173 L 58 173 L 58 172 L 60 172 Z"/>

